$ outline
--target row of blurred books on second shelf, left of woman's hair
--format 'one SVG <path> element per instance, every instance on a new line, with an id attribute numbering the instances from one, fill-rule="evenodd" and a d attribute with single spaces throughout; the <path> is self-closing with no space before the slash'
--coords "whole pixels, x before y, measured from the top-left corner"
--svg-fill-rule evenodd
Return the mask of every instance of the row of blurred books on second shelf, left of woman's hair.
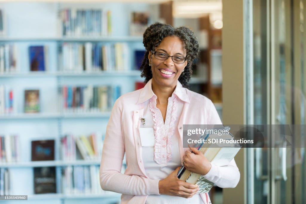
<path id="1" fill-rule="evenodd" d="M 129 70 L 128 50 L 126 43 L 63 43 L 59 49 L 59 70 L 126 71 Z"/>

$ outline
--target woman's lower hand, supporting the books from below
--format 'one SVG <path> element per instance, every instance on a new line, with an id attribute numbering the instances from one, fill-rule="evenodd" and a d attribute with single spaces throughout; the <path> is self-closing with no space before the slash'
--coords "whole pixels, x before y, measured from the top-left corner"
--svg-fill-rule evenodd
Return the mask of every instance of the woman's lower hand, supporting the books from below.
<path id="1" fill-rule="evenodd" d="M 177 167 L 167 178 L 158 183 L 159 194 L 191 198 L 199 191 L 198 185 L 184 182 L 177 178 L 180 167 Z"/>

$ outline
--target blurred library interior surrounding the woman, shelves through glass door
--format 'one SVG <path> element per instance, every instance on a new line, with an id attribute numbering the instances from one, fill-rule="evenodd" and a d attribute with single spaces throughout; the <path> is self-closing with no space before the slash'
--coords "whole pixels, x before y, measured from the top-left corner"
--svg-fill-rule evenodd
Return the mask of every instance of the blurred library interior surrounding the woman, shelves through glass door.
<path id="1" fill-rule="evenodd" d="M 144 86 L 142 34 L 156 21 L 195 32 L 189 87 L 224 124 L 305 124 L 305 3 L 0 1 L 0 195 L 120 202 L 99 185 L 103 138 L 114 101 Z M 306 203 L 302 127 L 293 148 L 242 149 L 240 182 L 213 187 L 212 203 Z"/>

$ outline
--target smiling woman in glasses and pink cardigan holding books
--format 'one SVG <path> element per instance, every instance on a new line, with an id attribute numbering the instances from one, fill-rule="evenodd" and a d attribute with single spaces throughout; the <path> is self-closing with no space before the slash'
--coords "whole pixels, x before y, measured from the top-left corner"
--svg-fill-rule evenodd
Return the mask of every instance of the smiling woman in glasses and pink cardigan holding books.
<path id="1" fill-rule="evenodd" d="M 144 32 L 143 43 L 147 57 L 140 69 L 146 85 L 114 104 L 101 187 L 121 193 L 121 203 L 210 203 L 207 193 L 196 194 L 197 185 L 177 178 L 182 162 L 220 187 L 235 187 L 240 174 L 234 160 L 217 167 L 195 148 L 183 148 L 183 124 L 221 124 L 211 100 L 186 89 L 199 53 L 196 36 L 186 27 L 155 23 Z M 127 168 L 121 174 L 124 154 Z"/>

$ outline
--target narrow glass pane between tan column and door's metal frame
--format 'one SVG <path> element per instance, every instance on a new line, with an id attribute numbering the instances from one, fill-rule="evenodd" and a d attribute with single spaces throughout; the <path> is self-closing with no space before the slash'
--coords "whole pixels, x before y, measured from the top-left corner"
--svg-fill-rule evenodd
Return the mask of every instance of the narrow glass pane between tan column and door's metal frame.
<path id="1" fill-rule="evenodd" d="M 253 1 L 253 80 L 254 80 L 254 124 L 268 124 L 267 118 L 267 2 Z M 267 138 L 265 138 L 267 140 Z M 253 151 L 253 152 L 251 152 Z M 268 151 L 263 148 L 248 149 L 253 160 L 253 201 L 268 201 Z M 252 174 L 251 174 L 252 175 Z"/>

